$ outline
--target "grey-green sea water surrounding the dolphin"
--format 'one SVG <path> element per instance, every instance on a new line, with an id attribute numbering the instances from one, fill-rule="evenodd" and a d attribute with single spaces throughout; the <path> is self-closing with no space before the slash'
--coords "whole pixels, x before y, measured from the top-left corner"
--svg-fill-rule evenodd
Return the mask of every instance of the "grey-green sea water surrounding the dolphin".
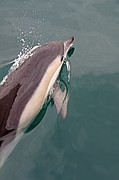
<path id="1" fill-rule="evenodd" d="M 0 0 L 0 68 L 70 36 L 68 115 L 49 107 L 0 180 L 119 180 L 119 0 Z"/>

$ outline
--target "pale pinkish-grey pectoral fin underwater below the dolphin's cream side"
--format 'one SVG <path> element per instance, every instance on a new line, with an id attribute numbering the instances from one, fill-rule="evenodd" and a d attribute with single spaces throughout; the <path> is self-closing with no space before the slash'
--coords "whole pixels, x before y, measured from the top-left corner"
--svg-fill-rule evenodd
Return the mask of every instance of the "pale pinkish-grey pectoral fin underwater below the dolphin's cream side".
<path id="1" fill-rule="evenodd" d="M 62 90 L 59 83 L 54 85 L 54 92 L 52 94 L 52 99 L 54 101 L 54 105 L 56 107 L 57 113 L 60 113 L 62 118 L 64 119 L 67 115 L 67 105 L 68 105 L 68 93 L 66 88 Z"/>

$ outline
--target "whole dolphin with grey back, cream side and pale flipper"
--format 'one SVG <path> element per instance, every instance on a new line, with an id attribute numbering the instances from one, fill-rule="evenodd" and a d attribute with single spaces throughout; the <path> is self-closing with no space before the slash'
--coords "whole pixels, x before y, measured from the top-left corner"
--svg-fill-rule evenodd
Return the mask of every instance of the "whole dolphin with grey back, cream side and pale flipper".
<path id="1" fill-rule="evenodd" d="M 74 38 L 35 47 L 15 63 L 0 85 L 0 167 L 51 93 L 58 113 L 66 92 L 56 83 Z M 56 84 L 55 84 L 56 83 Z M 58 105 L 58 97 L 62 100 Z"/>

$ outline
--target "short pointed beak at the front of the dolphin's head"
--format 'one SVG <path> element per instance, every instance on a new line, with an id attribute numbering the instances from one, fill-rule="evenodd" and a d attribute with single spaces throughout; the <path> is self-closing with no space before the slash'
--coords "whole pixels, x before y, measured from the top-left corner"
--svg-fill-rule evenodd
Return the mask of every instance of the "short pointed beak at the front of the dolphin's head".
<path id="1" fill-rule="evenodd" d="M 64 41 L 64 57 L 66 58 L 67 53 L 70 49 L 70 47 L 73 45 L 74 37 L 71 37 L 69 40 Z"/>

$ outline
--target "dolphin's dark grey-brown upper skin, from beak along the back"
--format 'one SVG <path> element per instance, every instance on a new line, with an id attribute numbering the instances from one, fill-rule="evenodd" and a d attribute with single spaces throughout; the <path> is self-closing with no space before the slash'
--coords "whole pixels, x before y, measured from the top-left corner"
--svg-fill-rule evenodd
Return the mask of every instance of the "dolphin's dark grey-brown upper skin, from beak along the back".
<path id="1" fill-rule="evenodd" d="M 57 57 L 62 61 L 73 40 L 72 37 L 36 48 L 33 55 L 11 72 L 0 86 L 0 149 L 15 138 L 21 114 L 50 64 Z"/>

